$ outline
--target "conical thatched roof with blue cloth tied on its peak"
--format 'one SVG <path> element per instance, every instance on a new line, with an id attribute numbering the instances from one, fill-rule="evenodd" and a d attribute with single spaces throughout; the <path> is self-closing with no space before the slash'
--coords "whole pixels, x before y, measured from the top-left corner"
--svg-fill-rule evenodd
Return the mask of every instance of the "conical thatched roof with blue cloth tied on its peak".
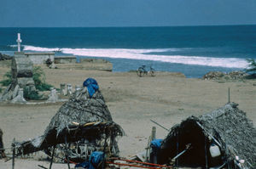
<path id="1" fill-rule="evenodd" d="M 90 122 L 95 122 L 92 125 Z M 82 124 L 82 125 L 81 125 Z M 23 155 L 34 151 L 47 149 L 50 146 L 67 142 L 79 141 L 81 138 L 89 142 L 93 140 L 104 140 L 107 137 L 118 151 L 115 138 L 123 136 L 124 132 L 118 124 L 114 123 L 108 106 L 98 90 L 90 98 L 86 87 L 73 93 L 67 103 L 63 104 L 51 119 L 44 135 L 31 141 L 16 143 Z"/>

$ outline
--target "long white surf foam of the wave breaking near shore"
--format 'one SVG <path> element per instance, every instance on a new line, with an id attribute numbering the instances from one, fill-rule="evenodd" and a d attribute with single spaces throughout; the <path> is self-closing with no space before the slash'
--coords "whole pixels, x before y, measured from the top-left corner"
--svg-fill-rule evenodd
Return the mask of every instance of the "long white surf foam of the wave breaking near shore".
<path id="1" fill-rule="evenodd" d="M 181 56 L 181 55 L 157 55 L 150 53 L 162 53 L 177 51 L 177 48 L 159 48 L 159 49 L 128 49 L 128 48 L 41 48 L 33 46 L 24 46 L 23 50 L 38 52 L 61 51 L 63 54 L 73 54 L 77 56 L 89 57 L 106 57 L 114 59 L 143 59 L 154 60 L 183 65 L 205 65 L 226 68 L 247 67 L 245 59 L 238 58 L 213 58 L 198 56 Z"/>

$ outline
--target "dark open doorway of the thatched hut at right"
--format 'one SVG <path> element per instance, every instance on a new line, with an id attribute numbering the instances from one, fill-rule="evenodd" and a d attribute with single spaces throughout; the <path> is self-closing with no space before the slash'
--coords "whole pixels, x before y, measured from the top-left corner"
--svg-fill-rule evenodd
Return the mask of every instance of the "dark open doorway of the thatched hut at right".
<path id="1" fill-rule="evenodd" d="M 174 136 L 174 137 L 173 137 Z M 180 127 L 177 127 L 172 133 L 172 137 L 166 142 L 166 147 L 160 151 L 159 163 L 166 164 L 175 156 L 190 148 L 175 160 L 175 166 L 189 166 L 208 168 L 218 166 L 222 162 L 220 156 L 212 158 L 209 148 L 209 140 L 196 121 L 183 121 Z"/>

